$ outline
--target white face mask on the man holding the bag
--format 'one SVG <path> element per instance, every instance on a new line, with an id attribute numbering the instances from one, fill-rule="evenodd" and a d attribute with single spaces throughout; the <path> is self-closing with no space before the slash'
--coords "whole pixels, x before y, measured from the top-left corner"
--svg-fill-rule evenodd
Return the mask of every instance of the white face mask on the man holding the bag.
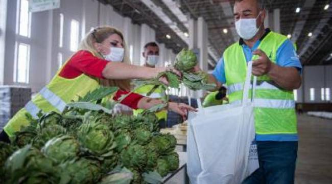
<path id="1" fill-rule="evenodd" d="M 258 16 L 260 13 L 261 12 L 259 12 Z M 259 27 L 262 26 L 260 25 L 258 28 L 256 26 L 258 16 L 256 18 L 240 18 L 240 20 L 235 21 L 236 32 L 238 32 L 241 38 L 249 40 L 257 34 Z"/>

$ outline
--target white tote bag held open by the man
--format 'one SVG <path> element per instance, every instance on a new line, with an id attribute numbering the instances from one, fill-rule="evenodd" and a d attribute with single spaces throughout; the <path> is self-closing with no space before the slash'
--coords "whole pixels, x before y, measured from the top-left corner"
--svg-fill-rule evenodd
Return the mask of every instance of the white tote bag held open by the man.
<path id="1" fill-rule="evenodd" d="M 192 184 L 239 184 L 258 168 L 253 98 L 248 97 L 251 69 L 249 62 L 242 103 L 202 108 L 198 99 L 198 112 L 189 114 L 187 173 Z M 256 77 L 253 94 L 255 86 Z"/>

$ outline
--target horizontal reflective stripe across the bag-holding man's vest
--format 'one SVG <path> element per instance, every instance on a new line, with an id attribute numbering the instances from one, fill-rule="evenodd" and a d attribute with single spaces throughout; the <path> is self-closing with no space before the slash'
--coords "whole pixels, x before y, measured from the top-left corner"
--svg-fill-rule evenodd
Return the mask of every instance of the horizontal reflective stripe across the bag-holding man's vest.
<path id="1" fill-rule="evenodd" d="M 241 100 L 236 100 L 231 104 L 239 105 Z M 287 109 L 295 108 L 294 100 L 257 99 L 254 100 L 254 107 Z"/>

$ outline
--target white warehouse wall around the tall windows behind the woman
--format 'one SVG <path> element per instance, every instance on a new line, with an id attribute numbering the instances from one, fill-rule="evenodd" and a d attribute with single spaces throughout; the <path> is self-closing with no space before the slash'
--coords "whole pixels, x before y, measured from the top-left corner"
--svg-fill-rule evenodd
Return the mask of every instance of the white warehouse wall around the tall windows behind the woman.
<path id="1" fill-rule="evenodd" d="M 27 39 L 31 45 L 30 82 L 29 84 L 14 83 L 15 41 L 26 39 L 15 33 L 18 1 L 0 1 L 0 84 L 30 86 L 33 92 L 47 84 L 58 70 L 58 53 L 63 54 L 64 61 L 73 54 L 69 50 L 70 21 L 72 19 L 80 22 L 80 40 L 90 31 L 91 27 L 98 25 L 111 25 L 123 31 L 129 54 L 130 46 L 133 48 L 132 63 L 136 65 L 143 61 L 141 56 L 143 46 L 149 41 L 155 41 L 155 31 L 152 28 L 147 25 L 132 24 L 130 18 L 117 14 L 109 5 L 105 6 L 97 0 L 61 0 L 59 9 L 32 13 L 31 38 Z M 7 16 L 4 16 L 6 8 L 2 6 L 6 7 L 6 3 Z M 60 13 L 64 15 L 62 48 L 58 46 Z M 5 52 L 2 53 L 2 51 Z M 161 45 L 161 55 L 165 61 L 173 61 L 175 58 L 175 54 L 171 50 L 165 49 L 163 45 Z"/>

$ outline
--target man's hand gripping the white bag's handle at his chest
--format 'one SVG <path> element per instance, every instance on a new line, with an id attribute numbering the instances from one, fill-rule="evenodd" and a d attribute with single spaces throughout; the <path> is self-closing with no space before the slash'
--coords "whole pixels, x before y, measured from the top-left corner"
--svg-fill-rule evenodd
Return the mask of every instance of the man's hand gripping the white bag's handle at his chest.
<path id="1" fill-rule="evenodd" d="M 274 65 L 269 57 L 260 49 L 255 50 L 253 54 L 259 57 L 252 61 L 252 74 L 255 76 L 268 74 Z"/>

